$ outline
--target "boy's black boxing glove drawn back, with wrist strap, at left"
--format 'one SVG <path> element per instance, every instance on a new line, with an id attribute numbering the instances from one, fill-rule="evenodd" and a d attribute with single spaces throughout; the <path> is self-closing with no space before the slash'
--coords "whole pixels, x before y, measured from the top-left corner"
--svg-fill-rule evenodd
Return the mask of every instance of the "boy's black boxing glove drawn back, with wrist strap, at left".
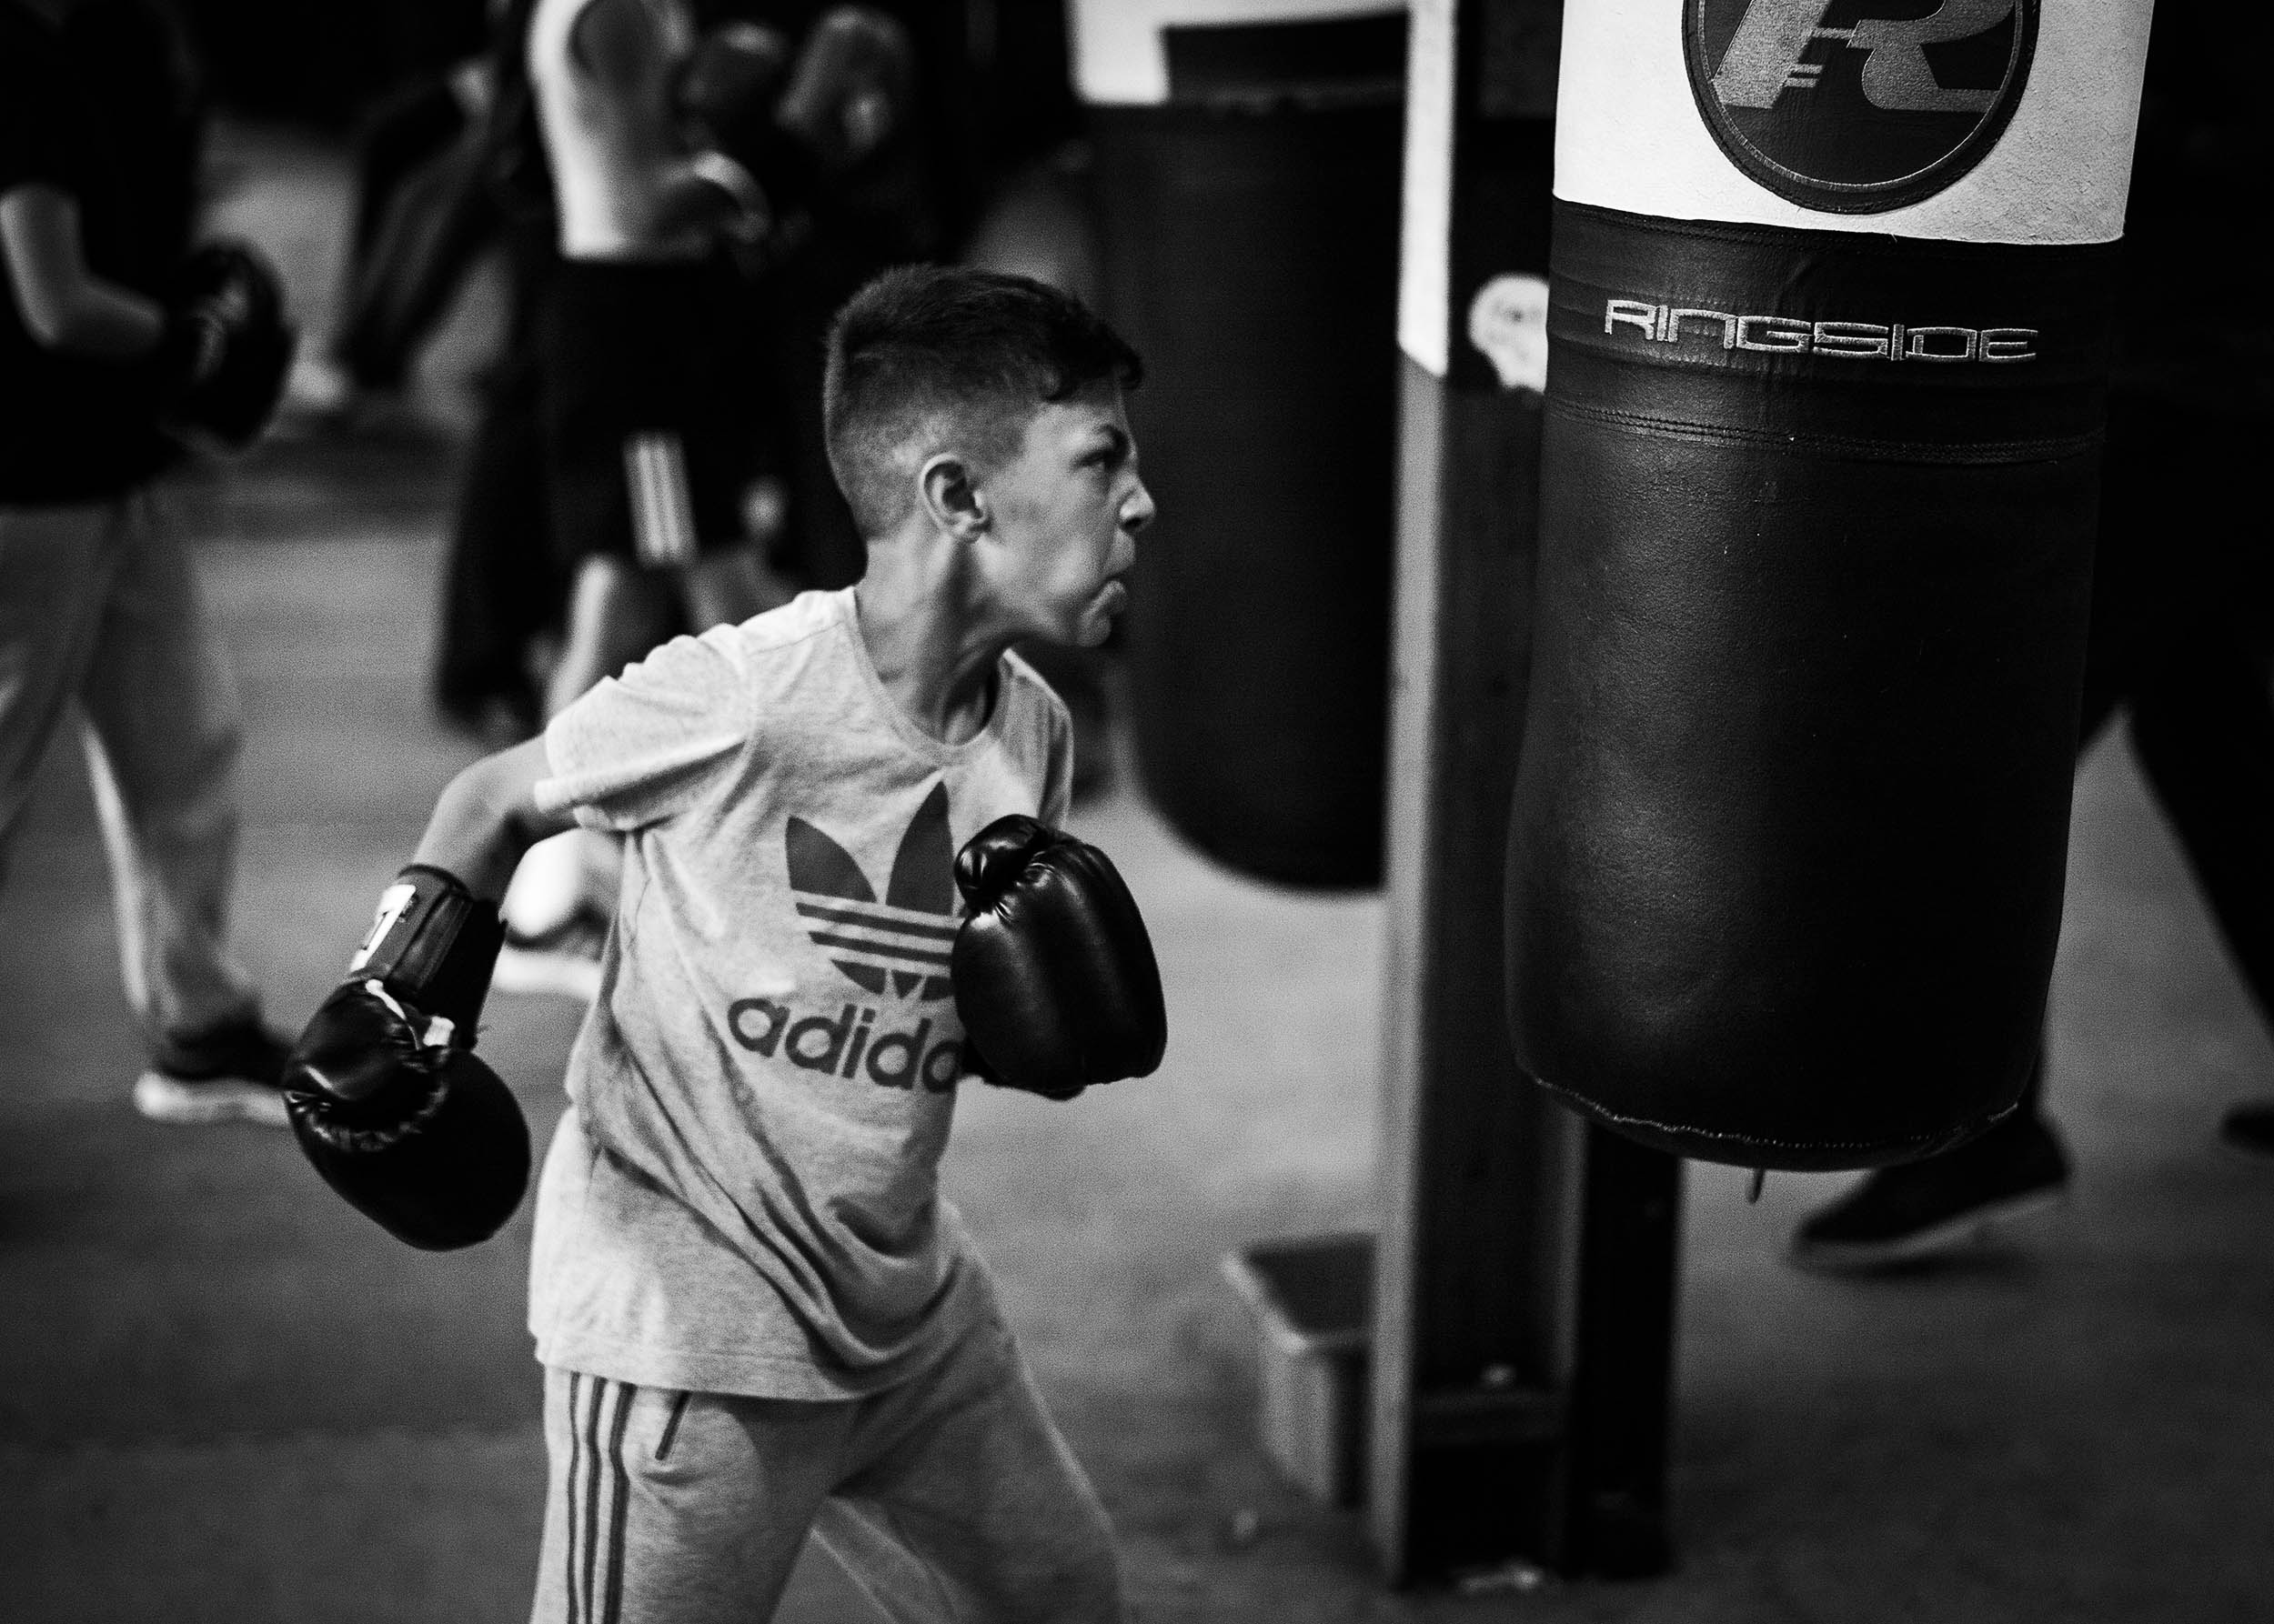
<path id="1" fill-rule="evenodd" d="M 348 1205 L 425 1251 L 496 1235 L 530 1180 L 521 1108 L 473 1055 L 503 942 L 493 903 L 407 867 L 284 1062 L 300 1151 Z"/>

